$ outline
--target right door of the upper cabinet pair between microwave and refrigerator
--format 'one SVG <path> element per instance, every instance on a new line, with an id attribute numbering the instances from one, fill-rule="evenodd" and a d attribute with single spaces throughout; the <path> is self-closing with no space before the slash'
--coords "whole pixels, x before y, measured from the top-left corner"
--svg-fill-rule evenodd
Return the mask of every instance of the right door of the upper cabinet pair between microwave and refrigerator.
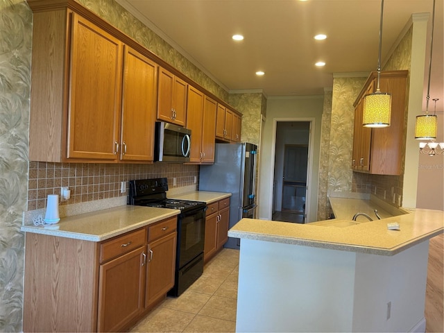
<path id="1" fill-rule="evenodd" d="M 217 103 L 205 96 L 203 105 L 202 162 L 214 162 Z"/>

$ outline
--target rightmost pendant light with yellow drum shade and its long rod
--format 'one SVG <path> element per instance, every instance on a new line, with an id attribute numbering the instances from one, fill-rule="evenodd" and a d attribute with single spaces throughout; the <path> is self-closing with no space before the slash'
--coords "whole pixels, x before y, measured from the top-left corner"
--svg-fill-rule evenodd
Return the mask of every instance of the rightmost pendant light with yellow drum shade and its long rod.
<path id="1" fill-rule="evenodd" d="M 430 99 L 430 75 L 432 74 L 432 51 L 433 51 L 433 33 L 435 25 L 435 0 L 433 0 L 433 14 L 432 14 L 432 40 L 430 41 L 430 59 L 429 59 L 429 82 L 427 85 L 427 101 L 425 103 L 425 114 L 416 116 L 415 139 L 418 140 L 432 140 L 436 139 L 436 114 L 429 114 L 429 99 Z M 435 100 L 434 100 L 435 101 Z M 438 101 L 438 99 L 436 99 Z M 435 101 L 435 112 L 436 112 Z"/>

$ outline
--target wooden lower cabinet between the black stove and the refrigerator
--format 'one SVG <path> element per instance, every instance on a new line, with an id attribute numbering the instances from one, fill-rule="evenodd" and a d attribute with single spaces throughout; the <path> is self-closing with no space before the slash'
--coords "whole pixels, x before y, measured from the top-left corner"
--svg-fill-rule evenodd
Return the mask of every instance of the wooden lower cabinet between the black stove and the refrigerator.
<path id="1" fill-rule="evenodd" d="M 205 247 L 203 261 L 207 263 L 228 241 L 230 198 L 208 205 L 205 216 Z"/>

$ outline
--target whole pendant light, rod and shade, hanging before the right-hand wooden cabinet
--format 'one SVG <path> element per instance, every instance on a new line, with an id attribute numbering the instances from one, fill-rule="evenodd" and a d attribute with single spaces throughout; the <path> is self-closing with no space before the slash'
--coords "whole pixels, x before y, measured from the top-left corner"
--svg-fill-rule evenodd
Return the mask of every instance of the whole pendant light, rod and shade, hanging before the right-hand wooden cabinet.
<path id="1" fill-rule="evenodd" d="M 381 45 L 382 45 L 382 15 L 384 0 L 381 1 L 381 22 L 379 24 L 379 55 L 377 60 L 376 92 L 364 96 L 364 111 L 362 113 L 362 126 L 387 127 L 390 126 L 391 94 L 379 90 L 379 76 L 381 74 Z"/>

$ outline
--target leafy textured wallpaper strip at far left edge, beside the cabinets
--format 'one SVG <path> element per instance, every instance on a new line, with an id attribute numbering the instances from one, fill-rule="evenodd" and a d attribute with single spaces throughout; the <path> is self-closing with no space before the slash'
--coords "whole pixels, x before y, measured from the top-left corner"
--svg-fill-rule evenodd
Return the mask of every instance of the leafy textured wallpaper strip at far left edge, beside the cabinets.
<path id="1" fill-rule="evenodd" d="M 0 331 L 22 330 L 31 10 L 0 0 Z"/>

